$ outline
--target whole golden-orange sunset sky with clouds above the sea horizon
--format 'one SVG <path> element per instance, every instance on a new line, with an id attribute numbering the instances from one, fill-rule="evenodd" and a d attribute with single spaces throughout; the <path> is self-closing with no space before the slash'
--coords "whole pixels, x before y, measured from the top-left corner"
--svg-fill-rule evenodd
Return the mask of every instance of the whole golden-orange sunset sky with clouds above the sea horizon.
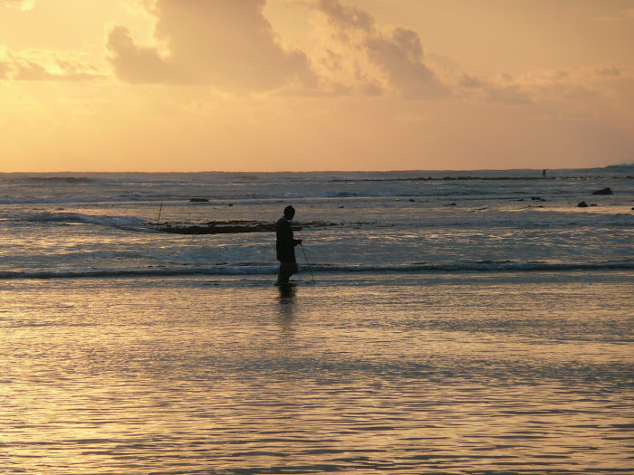
<path id="1" fill-rule="evenodd" d="M 634 0 L 0 0 L 0 172 L 634 163 Z"/>

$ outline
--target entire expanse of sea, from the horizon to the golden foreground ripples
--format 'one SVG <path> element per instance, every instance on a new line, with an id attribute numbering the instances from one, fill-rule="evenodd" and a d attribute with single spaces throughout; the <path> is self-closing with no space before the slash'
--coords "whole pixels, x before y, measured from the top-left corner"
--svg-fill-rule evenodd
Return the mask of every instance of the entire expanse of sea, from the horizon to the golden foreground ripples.
<path id="1" fill-rule="evenodd" d="M 633 175 L 2 175 L 0 473 L 630 472 Z"/>

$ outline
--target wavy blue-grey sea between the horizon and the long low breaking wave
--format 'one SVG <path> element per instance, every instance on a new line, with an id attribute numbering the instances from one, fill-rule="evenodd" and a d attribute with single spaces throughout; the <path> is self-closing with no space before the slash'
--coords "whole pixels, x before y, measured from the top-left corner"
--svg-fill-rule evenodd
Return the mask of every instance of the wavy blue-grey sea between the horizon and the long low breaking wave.
<path id="1" fill-rule="evenodd" d="M 0 279 L 274 274 L 274 233 L 156 223 L 271 224 L 286 204 L 318 273 L 634 269 L 634 166 L 550 173 L 0 174 Z"/>

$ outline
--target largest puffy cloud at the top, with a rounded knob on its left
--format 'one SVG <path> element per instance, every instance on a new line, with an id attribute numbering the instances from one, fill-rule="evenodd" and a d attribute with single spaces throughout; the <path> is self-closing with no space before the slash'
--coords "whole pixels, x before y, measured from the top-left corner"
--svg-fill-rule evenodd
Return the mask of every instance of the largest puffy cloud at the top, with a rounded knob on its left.
<path id="1" fill-rule="evenodd" d="M 208 84 L 223 90 L 312 87 L 307 56 L 285 50 L 263 14 L 265 0 L 157 0 L 157 44 L 135 43 L 130 31 L 110 32 L 110 62 L 122 81 Z M 163 51 L 166 51 L 165 53 Z"/>

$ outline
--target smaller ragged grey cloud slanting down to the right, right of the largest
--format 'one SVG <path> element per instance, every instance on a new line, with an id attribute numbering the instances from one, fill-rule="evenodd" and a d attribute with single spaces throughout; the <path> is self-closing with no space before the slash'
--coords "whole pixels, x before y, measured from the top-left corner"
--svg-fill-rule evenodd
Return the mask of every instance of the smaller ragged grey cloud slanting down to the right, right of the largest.
<path id="1" fill-rule="evenodd" d="M 331 76 L 341 78 L 341 71 L 347 69 L 349 85 L 366 93 L 396 90 L 407 99 L 447 95 L 447 88 L 425 62 L 418 33 L 406 28 L 384 33 L 370 14 L 339 0 L 318 0 L 315 7 L 325 15 L 330 28 L 326 33 L 335 43 L 322 60 Z"/>

